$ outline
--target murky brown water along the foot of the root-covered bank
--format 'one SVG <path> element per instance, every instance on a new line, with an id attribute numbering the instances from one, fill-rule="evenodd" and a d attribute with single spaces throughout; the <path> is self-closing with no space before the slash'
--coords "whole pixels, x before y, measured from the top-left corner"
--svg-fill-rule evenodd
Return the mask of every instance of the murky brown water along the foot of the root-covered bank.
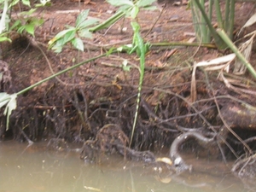
<path id="1" fill-rule="evenodd" d="M 189 163 L 197 163 L 197 173 L 171 177 L 154 172 L 154 165 L 124 162 L 121 157 L 88 165 L 78 153 L 48 151 L 44 146 L 0 143 L 0 192 L 247 191 L 219 162 L 194 160 Z"/>

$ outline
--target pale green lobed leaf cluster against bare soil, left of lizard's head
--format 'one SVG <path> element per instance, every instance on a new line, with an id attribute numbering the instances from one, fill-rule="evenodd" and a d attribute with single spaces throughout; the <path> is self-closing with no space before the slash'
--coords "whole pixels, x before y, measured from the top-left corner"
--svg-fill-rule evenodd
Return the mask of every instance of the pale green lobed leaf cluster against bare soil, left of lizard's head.
<path id="1" fill-rule="evenodd" d="M 49 49 L 54 49 L 55 53 L 60 53 L 63 46 L 71 43 L 76 49 L 84 51 L 84 43 L 81 38 L 92 38 L 89 26 L 95 25 L 97 19 L 88 19 L 90 9 L 82 11 L 77 20 L 76 26 L 66 26 L 67 29 L 59 32 L 49 41 Z"/>

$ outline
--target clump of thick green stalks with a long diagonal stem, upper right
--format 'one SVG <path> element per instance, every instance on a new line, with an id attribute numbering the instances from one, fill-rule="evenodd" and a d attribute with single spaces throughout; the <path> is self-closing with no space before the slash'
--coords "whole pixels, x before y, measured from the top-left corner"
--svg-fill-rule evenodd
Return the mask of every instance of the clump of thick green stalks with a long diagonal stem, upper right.
<path id="1" fill-rule="evenodd" d="M 215 7 L 218 22 L 217 30 L 212 26 L 213 5 Z M 210 43 L 212 35 L 218 49 L 230 48 L 241 63 L 253 74 L 253 77 L 256 78 L 254 68 L 247 61 L 246 56 L 242 55 L 241 51 L 239 51 L 239 49 L 236 48 L 236 45 L 232 42 L 235 20 L 235 0 L 225 1 L 224 16 L 221 13 L 219 0 L 209 0 L 208 15 L 205 9 L 205 0 L 190 1 L 190 7 L 192 9 L 195 32 L 198 40 L 201 43 Z"/>

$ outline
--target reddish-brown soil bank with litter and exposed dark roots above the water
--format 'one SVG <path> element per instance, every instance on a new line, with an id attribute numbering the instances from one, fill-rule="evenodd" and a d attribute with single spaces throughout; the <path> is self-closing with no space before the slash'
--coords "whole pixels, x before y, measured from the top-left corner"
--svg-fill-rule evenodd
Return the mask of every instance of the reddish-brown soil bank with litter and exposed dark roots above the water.
<path id="1" fill-rule="evenodd" d="M 249 18 L 249 11 L 255 12 L 252 5 L 253 3 L 236 3 L 236 29 Z M 111 47 L 131 44 L 130 20 L 125 19 L 108 30 L 96 32 L 92 40 L 84 39 L 86 48 L 83 53 L 73 49 L 71 45 L 67 45 L 61 54 L 57 55 L 48 50 L 49 40 L 66 25 L 73 26 L 78 11 L 83 9 L 90 9 L 90 16 L 101 20 L 106 20 L 116 10 L 100 0 L 93 0 L 89 4 L 69 0 L 53 1 L 52 7 L 37 12 L 38 16 L 44 17 L 45 22 L 43 26 L 38 27 L 34 41 L 14 34 L 13 43 L 2 46 L 3 60 L 9 63 L 12 75 L 12 84 L 6 91 L 18 92 L 53 73 L 101 55 Z M 186 6 L 176 7 L 172 5 L 172 1 L 168 2 L 160 19 L 151 29 L 159 15 L 160 10 L 140 12 L 138 22 L 142 26 L 145 41 L 188 42 L 194 38 L 191 14 L 186 10 Z M 205 72 L 202 69 L 195 73 L 197 97 L 196 102 L 192 103 L 193 64 L 221 55 L 223 53 L 217 49 L 203 47 L 153 46 L 150 49 L 146 56 L 142 102 L 133 148 L 169 148 L 180 132 L 192 129 L 206 133 L 218 132 L 223 123 L 218 118 L 216 103 L 219 108 L 241 105 L 241 102 L 231 96 L 255 106 L 255 92 L 250 94 L 231 89 L 218 78 L 219 71 Z M 256 66 L 255 59 L 253 52 L 253 67 Z M 122 70 L 122 62 L 125 60 L 131 65 L 129 72 Z M 10 131 L 5 131 L 6 119 L 2 115 L 0 136 L 6 139 L 10 133 L 20 141 L 26 141 L 26 137 L 32 141 L 54 137 L 84 143 L 95 138 L 104 125 L 114 124 L 118 125 L 127 137 L 131 137 L 136 113 L 138 65 L 137 55 L 119 53 L 90 61 L 62 74 L 58 79 L 50 79 L 18 97 L 18 107 L 10 119 Z M 249 73 L 235 76 L 231 72 L 232 66 L 230 73 L 225 73 L 225 77 L 230 82 L 232 79 L 236 80 L 234 86 L 237 89 L 242 87 L 255 91 L 255 81 Z M 228 123 L 233 125 L 232 122 Z"/>

